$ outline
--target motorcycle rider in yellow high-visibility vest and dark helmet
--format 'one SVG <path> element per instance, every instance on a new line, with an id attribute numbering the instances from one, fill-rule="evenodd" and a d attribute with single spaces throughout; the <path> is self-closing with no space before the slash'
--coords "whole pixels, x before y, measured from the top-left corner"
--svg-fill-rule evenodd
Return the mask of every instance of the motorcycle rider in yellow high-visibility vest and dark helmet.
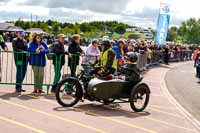
<path id="1" fill-rule="evenodd" d="M 102 69 L 98 72 L 102 77 L 107 77 L 110 74 L 114 74 L 117 70 L 117 59 L 116 53 L 111 48 L 111 44 L 109 40 L 104 40 L 101 42 L 102 53 L 99 57 L 99 64 Z"/>

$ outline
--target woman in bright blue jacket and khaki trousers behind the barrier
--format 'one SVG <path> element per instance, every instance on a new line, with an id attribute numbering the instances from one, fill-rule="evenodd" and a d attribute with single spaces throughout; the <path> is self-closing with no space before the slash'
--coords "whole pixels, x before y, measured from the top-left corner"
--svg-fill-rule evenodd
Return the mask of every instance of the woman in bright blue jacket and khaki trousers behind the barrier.
<path id="1" fill-rule="evenodd" d="M 32 65 L 34 73 L 34 91 L 33 93 L 44 93 L 42 84 L 44 80 L 44 67 L 46 66 L 45 54 L 49 53 L 47 44 L 42 41 L 40 34 L 35 34 L 30 43 L 28 51 L 31 53 L 29 64 Z"/>

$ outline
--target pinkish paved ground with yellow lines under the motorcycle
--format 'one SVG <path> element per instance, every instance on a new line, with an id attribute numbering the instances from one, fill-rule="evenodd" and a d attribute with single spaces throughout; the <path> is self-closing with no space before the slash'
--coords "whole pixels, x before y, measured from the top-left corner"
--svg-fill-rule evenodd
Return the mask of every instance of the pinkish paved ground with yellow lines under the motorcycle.
<path id="1" fill-rule="evenodd" d="M 10 57 L 6 60 L 10 61 Z M 181 63 L 172 66 L 178 65 Z M 2 78 L 6 77 L 6 73 L 15 75 L 15 67 L 13 70 L 11 66 L 3 68 Z M 165 92 L 163 81 L 170 69 L 162 66 L 145 74 L 144 82 L 151 88 L 151 97 L 145 112 L 141 113 L 133 112 L 129 103 L 120 104 L 121 107 L 113 109 L 111 106 L 87 100 L 72 108 L 63 108 L 57 104 L 54 94 L 32 94 L 33 86 L 23 86 L 26 93 L 17 94 L 14 93 L 15 86 L 0 85 L 0 132 L 198 133 L 193 123 L 183 115 Z M 30 72 L 31 69 L 28 76 Z M 46 74 L 47 78 L 50 77 L 49 72 Z M 9 76 L 7 78 L 9 79 Z"/>

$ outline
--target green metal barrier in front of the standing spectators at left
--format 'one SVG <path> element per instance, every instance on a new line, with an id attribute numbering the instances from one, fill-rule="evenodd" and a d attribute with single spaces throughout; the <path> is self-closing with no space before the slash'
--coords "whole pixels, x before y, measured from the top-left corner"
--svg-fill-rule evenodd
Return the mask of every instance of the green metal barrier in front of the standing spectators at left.
<path id="1" fill-rule="evenodd" d="M 64 74 L 70 75 L 71 72 L 69 68 L 74 67 L 74 66 L 68 66 L 68 56 L 66 55 L 56 56 L 56 54 L 50 53 L 50 54 L 44 55 L 45 60 L 46 60 L 46 65 L 44 66 L 44 73 L 41 73 L 40 70 L 34 73 L 33 67 L 28 63 L 28 60 L 30 60 L 31 56 L 34 56 L 36 58 L 36 62 L 37 62 L 36 64 L 44 63 L 39 57 L 39 55 L 36 53 L 1 51 L 0 53 L 0 84 L 46 86 L 47 92 L 48 92 L 49 87 L 57 84 L 60 78 L 62 78 L 62 75 Z M 65 65 L 63 65 L 62 69 L 60 70 L 59 68 L 61 66 L 62 56 L 66 56 Z M 78 59 L 77 57 L 79 57 L 79 55 L 72 55 L 72 58 L 75 60 L 75 62 Z M 53 58 L 55 59 L 56 65 L 53 65 Z M 22 83 L 16 83 L 17 82 L 17 76 L 16 76 L 17 66 L 21 66 L 20 73 L 23 73 L 24 69 L 26 68 L 26 63 L 27 63 L 27 70 L 26 70 L 24 80 Z M 78 74 L 79 72 L 79 69 L 81 67 L 80 64 L 81 63 L 79 63 L 79 65 L 77 66 L 76 74 Z M 61 72 L 61 75 L 59 77 L 60 72 Z M 43 76 L 43 82 L 35 83 L 34 74 Z M 54 77 L 55 77 L 55 81 L 54 81 Z M 22 76 L 20 78 L 22 78 Z"/>

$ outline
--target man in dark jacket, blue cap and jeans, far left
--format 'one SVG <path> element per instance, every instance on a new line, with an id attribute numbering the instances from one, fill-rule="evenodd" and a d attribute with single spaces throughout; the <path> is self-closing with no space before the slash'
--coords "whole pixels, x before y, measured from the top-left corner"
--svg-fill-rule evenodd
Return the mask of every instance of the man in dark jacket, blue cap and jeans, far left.
<path id="1" fill-rule="evenodd" d="M 17 38 L 15 38 L 12 42 L 15 65 L 17 68 L 15 89 L 16 92 L 25 92 L 25 90 L 22 89 L 22 82 L 27 71 L 28 54 L 26 52 L 28 44 L 24 39 L 24 31 L 16 32 L 16 36 Z"/>

